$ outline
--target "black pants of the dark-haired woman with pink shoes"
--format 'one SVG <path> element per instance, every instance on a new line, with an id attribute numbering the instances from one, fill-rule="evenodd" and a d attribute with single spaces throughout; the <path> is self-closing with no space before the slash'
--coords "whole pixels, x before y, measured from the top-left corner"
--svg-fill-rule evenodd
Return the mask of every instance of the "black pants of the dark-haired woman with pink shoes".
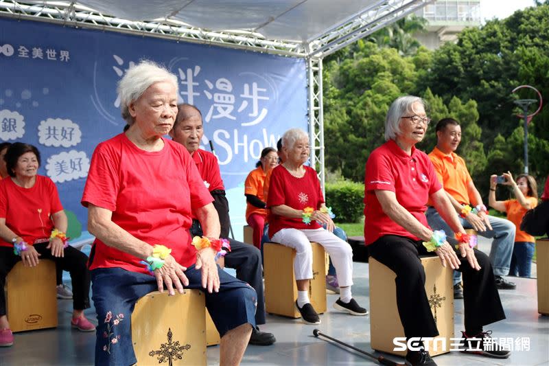
<path id="1" fill-rule="evenodd" d="M 73 309 L 84 310 L 90 307 L 90 272 L 86 266 L 88 256 L 74 249 L 65 248 L 65 257 L 56 258 L 51 255 L 51 250 L 46 249 L 47 243 L 34 244 L 34 249 L 40 253 L 38 260 L 53 260 L 56 267 L 71 274 L 73 286 Z M 5 315 L 5 277 L 17 262 L 21 260 L 19 255 L 13 253 L 12 247 L 0 247 L 0 316 Z M 55 288 L 51 289 L 55 291 Z"/>

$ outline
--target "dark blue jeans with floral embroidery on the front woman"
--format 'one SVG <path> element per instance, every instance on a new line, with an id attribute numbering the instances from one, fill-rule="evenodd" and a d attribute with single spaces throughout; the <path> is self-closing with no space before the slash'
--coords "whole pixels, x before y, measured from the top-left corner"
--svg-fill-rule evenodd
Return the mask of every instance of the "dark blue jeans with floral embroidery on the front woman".
<path id="1" fill-rule="evenodd" d="M 255 327 L 257 295 L 246 282 L 222 271 L 219 293 L 206 295 L 206 307 L 220 336 L 244 323 Z M 202 288 L 202 271 L 187 268 L 186 288 Z M 91 271 L 93 304 L 97 312 L 95 365 L 133 365 L 137 363 L 132 346 L 131 315 L 136 301 L 158 290 L 156 279 L 122 268 L 96 268 Z"/>

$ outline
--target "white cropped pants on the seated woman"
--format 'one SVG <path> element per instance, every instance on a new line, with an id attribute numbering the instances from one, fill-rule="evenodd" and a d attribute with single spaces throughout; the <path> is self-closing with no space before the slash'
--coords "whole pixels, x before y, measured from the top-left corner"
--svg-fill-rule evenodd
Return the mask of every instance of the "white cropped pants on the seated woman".
<path id="1" fill-rule="evenodd" d="M 318 242 L 328 252 L 336 267 L 340 287 L 353 284 L 353 250 L 349 243 L 326 229 L 281 229 L 272 236 L 273 242 L 296 250 L 294 274 L 296 279 L 313 277 L 313 251 L 310 242 Z"/>

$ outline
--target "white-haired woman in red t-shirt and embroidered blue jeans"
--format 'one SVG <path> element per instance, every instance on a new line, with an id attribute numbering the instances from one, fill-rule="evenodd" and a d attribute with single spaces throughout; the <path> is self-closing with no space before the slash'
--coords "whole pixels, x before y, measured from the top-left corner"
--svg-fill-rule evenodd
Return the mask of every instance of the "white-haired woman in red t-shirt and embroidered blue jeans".
<path id="1" fill-rule="evenodd" d="M 177 85 L 153 62 L 130 67 L 118 85 L 130 127 L 93 152 L 82 205 L 96 238 L 89 260 L 96 365 L 137 362 L 131 313 L 137 299 L 164 287 L 175 296 L 183 286 L 204 291 L 222 337 L 221 365 L 240 363 L 255 326 L 255 290 L 215 264 L 221 240 L 213 198 L 189 152 L 163 137 L 177 115 Z M 205 237 L 191 241 L 193 214 Z"/>

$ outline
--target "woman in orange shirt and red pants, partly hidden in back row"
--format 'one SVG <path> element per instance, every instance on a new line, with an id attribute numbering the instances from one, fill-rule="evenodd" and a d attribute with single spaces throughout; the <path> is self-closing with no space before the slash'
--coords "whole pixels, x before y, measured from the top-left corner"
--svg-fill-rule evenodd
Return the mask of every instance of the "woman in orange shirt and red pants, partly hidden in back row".
<path id="1" fill-rule="evenodd" d="M 253 229 L 253 244 L 261 250 L 261 237 L 265 227 L 267 211 L 264 199 L 263 184 L 269 170 L 279 164 L 279 156 L 274 148 L 261 150 L 261 159 L 255 164 L 255 169 L 246 177 L 244 195 L 246 196 L 246 222 Z"/>

